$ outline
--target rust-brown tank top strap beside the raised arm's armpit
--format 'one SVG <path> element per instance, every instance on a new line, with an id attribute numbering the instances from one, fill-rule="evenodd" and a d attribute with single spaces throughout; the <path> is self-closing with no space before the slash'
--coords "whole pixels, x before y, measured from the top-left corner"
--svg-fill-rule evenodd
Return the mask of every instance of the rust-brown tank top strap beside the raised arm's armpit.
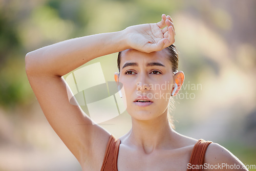
<path id="1" fill-rule="evenodd" d="M 100 171 L 118 171 L 117 158 L 119 152 L 120 140 L 110 135 L 108 145 L 106 146 L 104 160 Z"/>

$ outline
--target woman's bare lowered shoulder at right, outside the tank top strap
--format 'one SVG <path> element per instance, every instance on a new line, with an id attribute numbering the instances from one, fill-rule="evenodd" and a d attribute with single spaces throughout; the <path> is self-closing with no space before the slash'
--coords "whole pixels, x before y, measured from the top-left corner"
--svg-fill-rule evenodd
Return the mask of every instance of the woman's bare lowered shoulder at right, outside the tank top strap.
<path id="1" fill-rule="evenodd" d="M 236 156 L 217 143 L 209 144 L 204 163 L 204 170 L 248 170 Z"/>

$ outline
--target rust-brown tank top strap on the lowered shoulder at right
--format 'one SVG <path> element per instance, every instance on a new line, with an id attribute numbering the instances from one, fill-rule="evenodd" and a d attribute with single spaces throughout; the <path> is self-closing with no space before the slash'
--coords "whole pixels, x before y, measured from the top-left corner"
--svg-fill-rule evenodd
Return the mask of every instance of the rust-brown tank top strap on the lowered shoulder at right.
<path id="1" fill-rule="evenodd" d="M 200 139 L 195 144 L 193 151 L 191 153 L 191 157 L 189 160 L 190 166 L 193 166 L 193 168 L 197 169 L 187 169 L 187 171 L 201 171 L 203 164 L 204 164 L 204 155 L 206 152 L 206 149 L 208 145 L 212 143 L 211 141 L 205 141 L 203 139 Z M 194 167 L 195 166 L 195 167 Z M 201 166 L 201 167 L 200 167 Z"/>

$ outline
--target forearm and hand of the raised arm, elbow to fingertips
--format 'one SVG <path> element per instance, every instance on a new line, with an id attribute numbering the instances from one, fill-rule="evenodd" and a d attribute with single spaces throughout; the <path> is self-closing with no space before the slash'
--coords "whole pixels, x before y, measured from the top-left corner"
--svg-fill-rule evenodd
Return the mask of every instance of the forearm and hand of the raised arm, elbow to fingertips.
<path id="1" fill-rule="evenodd" d="M 170 20 L 163 14 L 156 24 L 131 26 L 119 32 L 74 38 L 40 48 L 26 55 L 26 71 L 33 75 L 63 76 L 96 57 L 125 49 L 160 51 L 174 43 Z"/>

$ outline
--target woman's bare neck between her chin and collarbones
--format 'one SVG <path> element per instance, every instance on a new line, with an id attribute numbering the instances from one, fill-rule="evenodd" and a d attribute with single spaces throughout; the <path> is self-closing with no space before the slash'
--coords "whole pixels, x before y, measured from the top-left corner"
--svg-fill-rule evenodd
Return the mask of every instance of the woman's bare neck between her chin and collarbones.
<path id="1" fill-rule="evenodd" d="M 142 147 L 147 154 L 156 148 L 168 146 L 175 134 L 168 121 L 167 110 L 154 120 L 132 119 L 132 124 L 127 140 L 135 146 Z"/>

